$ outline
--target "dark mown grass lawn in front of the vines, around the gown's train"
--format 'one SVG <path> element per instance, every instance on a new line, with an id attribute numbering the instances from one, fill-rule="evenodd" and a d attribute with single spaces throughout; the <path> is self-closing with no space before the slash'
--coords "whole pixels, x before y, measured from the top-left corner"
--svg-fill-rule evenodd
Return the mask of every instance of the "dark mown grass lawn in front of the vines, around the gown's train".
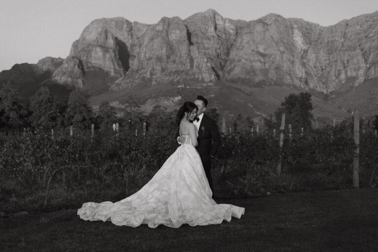
<path id="1" fill-rule="evenodd" d="M 3 218 L 0 251 L 378 251 L 378 189 L 216 201 L 246 213 L 178 229 L 83 221 L 76 209 Z"/>

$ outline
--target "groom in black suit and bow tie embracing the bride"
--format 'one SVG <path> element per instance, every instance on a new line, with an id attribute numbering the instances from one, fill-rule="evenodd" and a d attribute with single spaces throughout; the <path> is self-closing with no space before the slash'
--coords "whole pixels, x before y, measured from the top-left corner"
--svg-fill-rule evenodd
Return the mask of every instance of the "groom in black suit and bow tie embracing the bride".
<path id="1" fill-rule="evenodd" d="M 205 170 L 206 178 L 209 181 L 210 189 L 213 192 L 213 179 L 211 177 L 211 160 L 215 158 L 215 155 L 221 146 L 221 135 L 219 134 L 219 129 L 217 123 L 205 115 L 207 107 L 207 99 L 202 95 L 198 95 L 194 104 L 197 105 L 197 117 L 194 119 L 193 124 L 198 128 L 198 146 L 196 147 L 199 156 L 202 160 L 202 165 Z M 184 142 L 183 141 L 180 142 Z"/>

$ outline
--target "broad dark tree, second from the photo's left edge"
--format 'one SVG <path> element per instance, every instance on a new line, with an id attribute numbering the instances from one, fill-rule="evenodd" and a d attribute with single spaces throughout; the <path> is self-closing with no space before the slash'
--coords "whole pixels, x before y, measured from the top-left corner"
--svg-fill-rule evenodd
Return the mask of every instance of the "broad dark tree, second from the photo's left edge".
<path id="1" fill-rule="evenodd" d="M 47 87 L 41 87 L 31 98 L 29 109 L 31 125 L 35 128 L 54 128 L 62 125 L 63 115 L 57 97 Z"/>

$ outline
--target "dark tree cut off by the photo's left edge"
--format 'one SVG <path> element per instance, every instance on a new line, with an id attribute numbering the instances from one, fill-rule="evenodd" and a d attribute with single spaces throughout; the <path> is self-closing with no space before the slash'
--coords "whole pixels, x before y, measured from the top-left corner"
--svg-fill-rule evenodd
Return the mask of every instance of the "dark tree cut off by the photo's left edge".
<path id="1" fill-rule="evenodd" d="M 26 126 L 28 111 L 17 90 L 10 85 L 0 89 L 0 126 L 21 128 Z"/>

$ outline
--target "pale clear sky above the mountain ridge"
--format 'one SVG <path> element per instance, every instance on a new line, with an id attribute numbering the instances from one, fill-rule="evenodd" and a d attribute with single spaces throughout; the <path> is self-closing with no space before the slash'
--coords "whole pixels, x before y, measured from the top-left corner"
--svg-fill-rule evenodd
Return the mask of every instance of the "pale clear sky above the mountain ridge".
<path id="1" fill-rule="evenodd" d="M 231 19 L 277 13 L 329 26 L 377 11 L 378 0 L 0 0 L 0 71 L 46 56 L 67 57 L 72 42 L 97 18 L 155 24 L 210 8 Z"/>

